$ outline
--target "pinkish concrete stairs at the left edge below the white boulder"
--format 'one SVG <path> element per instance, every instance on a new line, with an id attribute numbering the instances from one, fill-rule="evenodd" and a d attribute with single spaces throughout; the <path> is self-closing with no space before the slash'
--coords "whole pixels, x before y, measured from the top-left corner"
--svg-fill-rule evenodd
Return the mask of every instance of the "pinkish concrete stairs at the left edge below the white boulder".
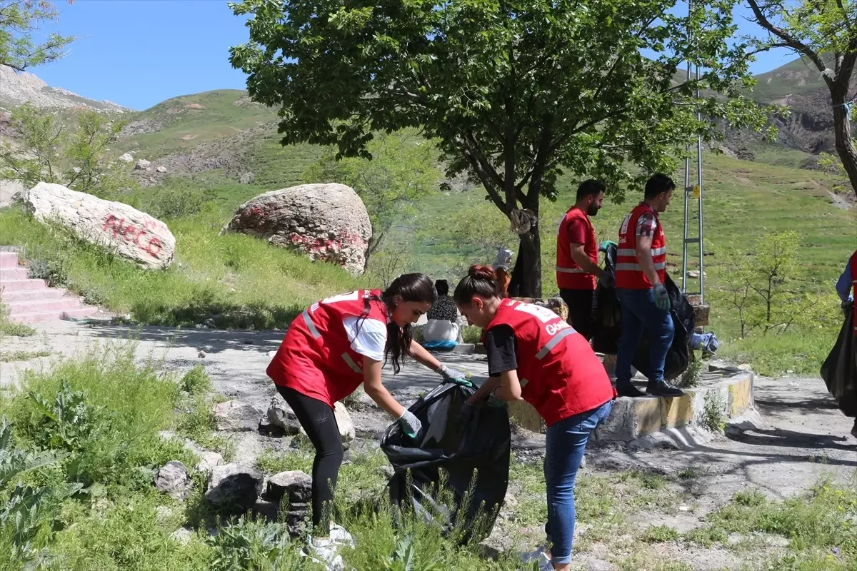
<path id="1" fill-rule="evenodd" d="M 86 318 L 98 307 L 85 306 L 81 298 L 63 288 L 49 288 L 34 280 L 18 265 L 18 254 L 0 252 L 0 301 L 9 308 L 9 320 L 23 323 L 54 319 Z"/>

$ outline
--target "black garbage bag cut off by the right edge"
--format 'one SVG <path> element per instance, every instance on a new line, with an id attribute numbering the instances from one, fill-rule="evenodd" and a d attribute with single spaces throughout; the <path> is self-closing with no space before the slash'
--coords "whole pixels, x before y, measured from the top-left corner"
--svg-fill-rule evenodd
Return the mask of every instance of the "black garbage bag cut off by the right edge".
<path id="1" fill-rule="evenodd" d="M 836 345 L 821 366 L 821 378 L 845 416 L 857 416 L 857 336 L 854 335 L 854 304 L 845 306 L 845 323 Z"/>

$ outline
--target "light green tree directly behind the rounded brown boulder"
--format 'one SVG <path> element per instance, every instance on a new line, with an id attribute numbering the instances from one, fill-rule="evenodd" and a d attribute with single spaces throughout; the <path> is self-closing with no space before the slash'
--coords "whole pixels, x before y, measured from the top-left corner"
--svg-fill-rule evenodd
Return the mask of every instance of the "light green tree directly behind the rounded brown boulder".
<path id="1" fill-rule="evenodd" d="M 393 224 L 414 212 L 418 200 L 436 193 L 441 178 L 436 148 L 420 140 L 416 129 L 381 133 L 369 143 L 368 150 L 371 159 L 342 160 L 337 160 L 332 150 L 303 174 L 307 182 L 345 184 L 363 199 L 372 222 L 367 265 Z"/>

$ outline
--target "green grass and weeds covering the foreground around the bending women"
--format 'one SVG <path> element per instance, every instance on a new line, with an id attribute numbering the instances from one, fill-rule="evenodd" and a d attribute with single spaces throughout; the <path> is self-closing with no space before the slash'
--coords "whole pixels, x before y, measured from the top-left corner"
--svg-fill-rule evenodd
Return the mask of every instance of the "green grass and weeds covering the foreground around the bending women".
<path id="1" fill-rule="evenodd" d="M 155 491 L 166 461 L 195 466 L 198 458 L 177 431 L 207 449 L 211 381 L 201 367 L 178 377 L 158 363 L 135 365 L 130 344 L 104 346 L 51 371 L 29 372 L 21 386 L 0 391 L 0 561 L 3 569 L 160 569 L 164 571 L 315 571 L 282 520 L 219 513 L 207 503 L 204 473 L 193 473 L 188 499 Z M 200 409 L 196 403 L 205 402 Z M 204 423 L 203 423 L 204 424 Z M 197 425 L 189 431 L 189 425 Z M 309 470 L 309 449 L 263 453 L 267 475 Z M 512 462 L 514 502 L 497 520 L 509 547 L 486 558 L 481 544 L 459 545 L 422 514 L 390 506 L 375 450 L 354 454 L 340 473 L 336 520 L 357 546 L 341 555 L 349 568 L 372 571 L 517 571 L 518 550 L 543 538 L 545 485 L 540 463 Z M 686 532 L 652 526 L 680 505 L 697 509 L 686 485 L 692 471 L 578 475 L 578 537 L 574 552 L 595 554 L 622 571 L 692 571 L 684 554 L 714 547 L 747 571 L 854 571 L 857 488 L 820 481 L 784 502 L 747 489 Z M 183 531 L 181 531 L 183 528 Z M 185 539 L 177 538 L 180 531 Z M 782 550 L 772 556 L 770 541 Z M 675 548 L 679 547 L 678 553 Z M 410 562 L 410 567 L 406 563 Z"/>

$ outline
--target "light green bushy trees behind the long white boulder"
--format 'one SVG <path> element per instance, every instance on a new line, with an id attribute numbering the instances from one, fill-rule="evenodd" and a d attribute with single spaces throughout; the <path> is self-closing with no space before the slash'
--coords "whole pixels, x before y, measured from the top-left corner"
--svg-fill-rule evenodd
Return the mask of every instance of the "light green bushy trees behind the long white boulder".
<path id="1" fill-rule="evenodd" d="M 134 186 L 127 167 L 110 162 L 107 146 L 117 140 L 121 122 L 90 110 L 69 127 L 56 114 L 23 104 L 12 113 L 10 125 L 19 137 L 0 146 L 0 178 L 26 187 L 57 182 L 102 198 Z"/>

